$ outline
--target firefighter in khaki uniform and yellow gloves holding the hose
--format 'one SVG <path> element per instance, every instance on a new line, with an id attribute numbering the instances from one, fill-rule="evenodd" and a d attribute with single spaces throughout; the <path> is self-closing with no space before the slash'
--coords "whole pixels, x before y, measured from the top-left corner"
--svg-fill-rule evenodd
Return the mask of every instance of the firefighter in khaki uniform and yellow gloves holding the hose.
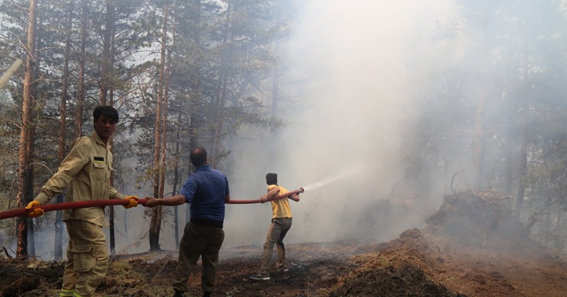
<path id="1" fill-rule="evenodd" d="M 113 154 L 108 141 L 118 123 L 118 111 L 98 106 L 93 112 L 95 131 L 74 141 L 73 148 L 59 164 L 27 209 L 43 205 L 68 186 L 66 202 L 129 199 L 125 208 L 137 206 L 136 196 L 124 196 L 111 186 Z M 43 215 L 34 209 L 27 217 Z M 108 270 L 109 252 L 103 227 L 108 225 L 104 207 L 66 209 L 63 217 L 69 234 L 67 262 L 59 296 L 93 296 Z"/>

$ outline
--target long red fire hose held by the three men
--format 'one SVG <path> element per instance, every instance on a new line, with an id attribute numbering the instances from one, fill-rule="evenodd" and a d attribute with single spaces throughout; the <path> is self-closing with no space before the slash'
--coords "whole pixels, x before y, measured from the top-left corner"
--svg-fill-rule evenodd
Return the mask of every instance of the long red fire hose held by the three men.
<path id="1" fill-rule="evenodd" d="M 288 193 L 281 194 L 274 198 L 268 199 L 268 201 L 274 201 L 278 199 L 282 199 L 284 197 L 288 197 L 292 194 L 299 194 L 303 193 L 303 188 L 300 187 L 299 190 L 291 191 Z M 0 220 L 9 217 L 20 217 L 26 216 L 28 212 L 33 209 L 43 209 L 43 211 L 52 211 L 52 210 L 63 210 L 63 209 L 82 209 L 87 207 L 94 207 L 94 206 L 106 206 L 106 205 L 128 205 L 129 199 L 110 199 L 110 200 L 91 200 L 88 202 L 63 202 L 63 203 L 55 203 L 55 204 L 45 204 L 45 205 L 38 205 L 34 206 L 31 209 L 12 209 L 6 211 L 0 211 Z M 148 202 L 145 198 L 140 198 L 137 200 L 138 204 L 144 205 Z M 251 204 L 251 203 L 260 203 L 260 199 L 254 200 L 231 200 L 228 204 Z"/>

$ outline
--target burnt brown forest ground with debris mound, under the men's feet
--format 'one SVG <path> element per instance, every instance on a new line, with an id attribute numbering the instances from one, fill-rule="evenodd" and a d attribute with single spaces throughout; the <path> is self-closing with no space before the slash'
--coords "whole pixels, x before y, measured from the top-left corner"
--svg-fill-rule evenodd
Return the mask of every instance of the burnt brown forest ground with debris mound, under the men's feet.
<path id="1" fill-rule="evenodd" d="M 530 240 L 499 197 L 448 196 L 427 226 L 389 242 L 288 244 L 287 272 L 252 281 L 261 247 L 221 251 L 216 296 L 567 295 L 567 257 Z M 116 255 L 97 296 L 172 296 L 176 253 Z M 0 296 L 53 296 L 63 263 L 0 258 Z M 200 296 L 200 265 L 190 296 Z"/>

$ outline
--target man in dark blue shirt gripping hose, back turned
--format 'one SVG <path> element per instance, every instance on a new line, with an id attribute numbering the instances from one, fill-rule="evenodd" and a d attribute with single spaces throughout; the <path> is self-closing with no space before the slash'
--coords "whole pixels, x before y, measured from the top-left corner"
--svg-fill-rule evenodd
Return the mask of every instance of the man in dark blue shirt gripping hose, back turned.
<path id="1" fill-rule="evenodd" d="M 185 226 L 179 244 L 179 259 L 175 269 L 174 297 L 183 297 L 189 291 L 190 272 L 195 268 L 199 256 L 203 263 L 201 288 L 203 296 L 214 291 L 216 265 L 219 250 L 224 240 L 224 203 L 230 201 L 229 181 L 224 173 L 207 164 L 205 148 L 194 148 L 190 152 L 191 164 L 197 171 L 185 181 L 180 194 L 167 198 L 146 197 L 145 207 L 156 205 L 175 206 L 190 203 L 190 223 Z"/>

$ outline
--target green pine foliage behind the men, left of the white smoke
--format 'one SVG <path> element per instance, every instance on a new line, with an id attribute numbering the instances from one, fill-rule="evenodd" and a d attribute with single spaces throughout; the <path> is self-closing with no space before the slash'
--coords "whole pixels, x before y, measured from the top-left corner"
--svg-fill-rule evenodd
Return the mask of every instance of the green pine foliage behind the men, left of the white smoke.
<path id="1" fill-rule="evenodd" d="M 109 14 L 104 0 L 38 2 L 34 121 L 27 125 L 35 127 L 34 194 L 58 167 L 62 99 L 66 103 L 68 152 L 78 131 L 83 135 L 92 131 L 91 112 L 99 103 L 101 86 L 110 89 L 109 96 L 112 91 L 113 105 L 120 113 L 113 139 L 115 186 L 146 188 L 157 170 L 167 172 L 169 183 L 178 170 L 183 181 L 190 171 L 189 148 L 205 146 L 212 158 L 224 160 L 231 153 L 224 147 L 226 139 L 243 127 L 282 125 L 268 114 L 265 106 L 269 96 L 263 94 L 271 88 L 271 69 L 276 61 L 273 43 L 287 27 L 281 20 L 285 19 L 281 16 L 283 3 L 129 0 L 114 4 L 115 10 Z M 166 4 L 167 160 L 152 169 Z M 0 20 L 9 24 L 0 31 L 2 57 L 27 59 L 28 5 L 27 0 L 0 0 Z M 109 17 L 112 44 L 104 60 Z M 10 61 L 2 58 L 0 65 L 9 65 Z M 106 75 L 105 63 L 111 64 Z M 17 185 L 23 93 L 23 76 L 21 72 L 17 75 L 9 88 L 0 92 L 0 148 L 5 152 L 0 160 L 3 208 L 14 206 L 7 200 L 13 198 Z M 65 94 L 64 82 L 68 83 Z M 82 106 L 78 101 L 80 90 L 84 91 Z M 126 164 L 125 160 L 136 161 Z"/>

